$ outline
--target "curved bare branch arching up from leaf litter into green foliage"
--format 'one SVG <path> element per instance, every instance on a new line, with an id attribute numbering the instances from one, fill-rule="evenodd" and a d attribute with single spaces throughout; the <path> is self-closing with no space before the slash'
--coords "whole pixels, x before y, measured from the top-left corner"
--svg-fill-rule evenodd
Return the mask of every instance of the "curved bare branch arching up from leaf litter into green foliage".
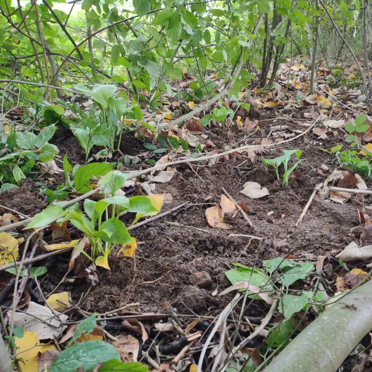
<path id="1" fill-rule="evenodd" d="M 252 31 L 252 35 L 255 35 L 257 33 L 257 30 L 259 28 L 259 25 L 261 24 L 262 17 L 263 17 L 263 13 L 261 13 L 260 16 L 258 17 L 257 22 L 256 22 L 256 24 L 254 26 L 253 31 Z M 248 41 L 249 41 L 249 39 L 248 39 Z M 220 98 L 222 98 L 228 92 L 228 90 L 233 86 L 233 84 L 235 83 L 235 80 L 238 77 L 238 75 L 239 75 L 240 70 L 242 69 L 242 67 L 243 67 L 243 59 L 242 59 L 242 52 L 241 52 L 240 55 L 239 55 L 237 64 L 235 65 L 235 68 L 233 68 L 233 71 L 231 73 L 231 79 L 225 85 L 225 87 L 221 90 L 220 93 L 218 93 L 217 95 L 215 95 L 213 98 L 211 98 L 210 100 L 208 100 L 203 105 L 200 105 L 196 109 L 190 111 L 186 115 L 183 115 L 182 117 L 180 117 L 180 118 L 178 118 L 178 119 L 176 119 L 176 120 L 174 120 L 174 121 L 172 121 L 170 123 L 163 123 L 163 124 L 158 125 L 158 128 L 162 128 L 162 127 L 168 126 L 168 125 L 178 125 L 178 124 L 184 123 L 184 122 L 186 122 L 186 120 L 190 119 L 191 117 L 195 116 L 196 114 L 199 114 L 203 110 L 208 109 L 210 105 L 212 105 L 213 103 L 215 103 L 216 101 L 218 101 Z"/>

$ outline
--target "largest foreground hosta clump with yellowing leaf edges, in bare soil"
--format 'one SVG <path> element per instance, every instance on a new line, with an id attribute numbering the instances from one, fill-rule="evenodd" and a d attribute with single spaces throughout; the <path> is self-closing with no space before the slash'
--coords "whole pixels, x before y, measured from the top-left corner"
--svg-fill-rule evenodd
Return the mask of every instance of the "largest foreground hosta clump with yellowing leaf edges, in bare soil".
<path id="1" fill-rule="evenodd" d="M 106 174 L 97 184 L 97 186 L 105 186 L 104 199 L 99 201 L 85 199 L 84 213 L 80 212 L 77 203 L 68 210 L 51 204 L 43 212 L 38 213 L 26 229 L 42 227 L 54 221 L 57 221 L 59 225 L 70 221 L 88 238 L 91 245 L 91 255 L 78 245 L 75 247 L 96 265 L 110 270 L 108 256 L 116 245 L 135 246 L 135 239 L 129 235 L 126 226 L 119 220 L 120 215 L 123 212 L 136 213 L 133 223 L 142 217 L 155 215 L 162 207 L 163 194 L 130 198 L 117 195 L 117 191 L 123 187 L 128 175 L 119 171 L 106 172 L 106 169 L 94 171 L 93 168 L 97 164 L 101 168 L 105 166 L 105 163 L 92 163 L 80 168 L 75 173 L 74 183 L 75 187 L 80 185 L 84 192 L 89 191 L 88 184 L 92 176 L 97 173 L 102 175 L 102 172 L 105 171 Z M 124 252 L 123 247 L 121 251 Z"/>

